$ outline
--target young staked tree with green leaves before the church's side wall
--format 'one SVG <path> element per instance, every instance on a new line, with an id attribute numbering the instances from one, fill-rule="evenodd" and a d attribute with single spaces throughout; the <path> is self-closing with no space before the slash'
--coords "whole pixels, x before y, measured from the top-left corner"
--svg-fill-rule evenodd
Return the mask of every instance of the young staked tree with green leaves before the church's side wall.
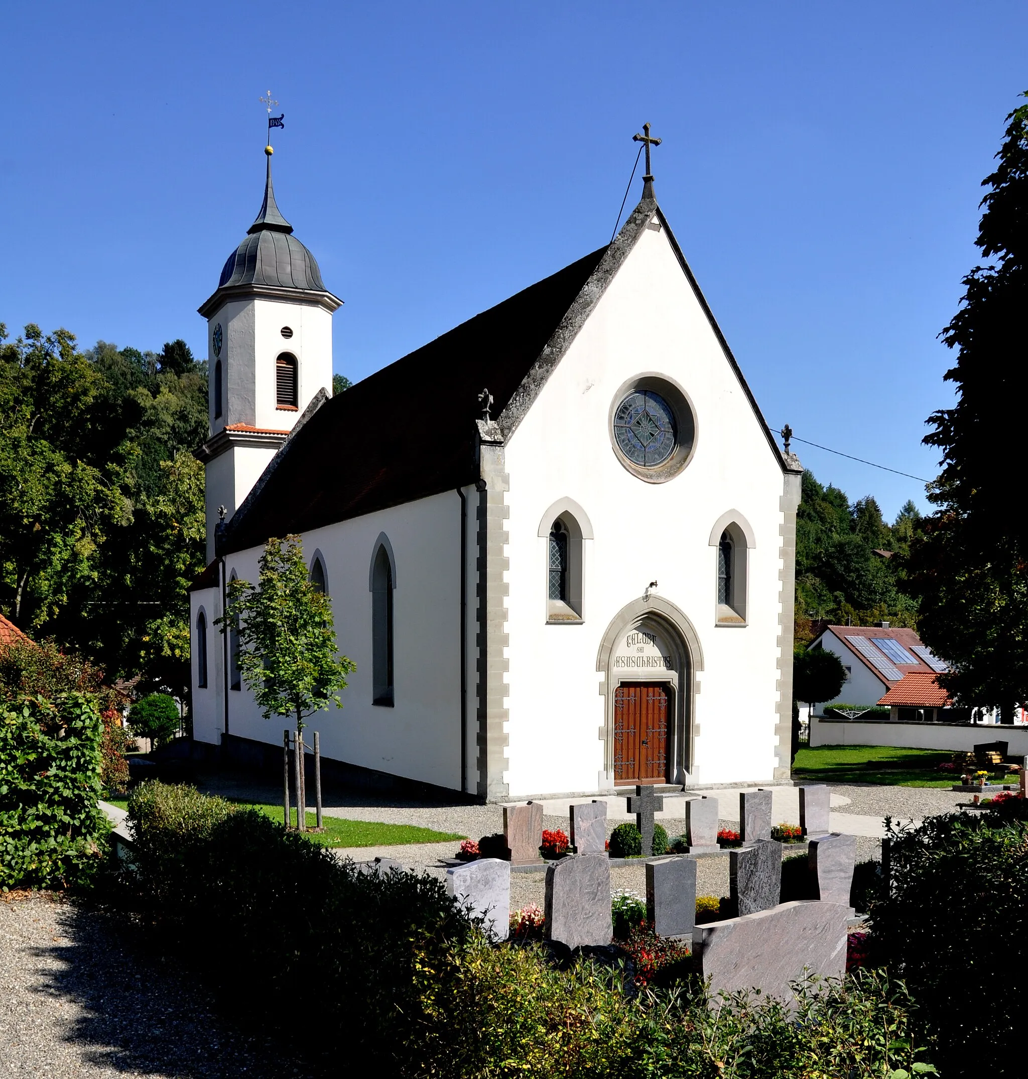
<path id="1" fill-rule="evenodd" d="M 257 585 L 229 584 L 228 611 L 216 624 L 238 633 L 237 665 L 265 719 L 288 715 L 297 723 L 297 827 L 305 830 L 304 719 L 330 704 L 356 665 L 340 655 L 332 607 L 307 574 L 299 536 L 269 540 Z"/>

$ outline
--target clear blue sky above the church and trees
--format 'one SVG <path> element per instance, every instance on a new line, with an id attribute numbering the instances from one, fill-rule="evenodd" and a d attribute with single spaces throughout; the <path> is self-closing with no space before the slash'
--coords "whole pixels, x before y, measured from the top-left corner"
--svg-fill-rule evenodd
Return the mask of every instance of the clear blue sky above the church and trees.
<path id="1" fill-rule="evenodd" d="M 3 25 L 9 330 L 202 356 L 271 87 L 279 206 L 345 300 L 356 381 L 607 242 L 648 120 L 658 199 L 771 426 L 935 473 L 936 334 L 1028 88 L 1023 2 L 41 2 Z M 926 506 L 798 449 L 890 518 Z"/>

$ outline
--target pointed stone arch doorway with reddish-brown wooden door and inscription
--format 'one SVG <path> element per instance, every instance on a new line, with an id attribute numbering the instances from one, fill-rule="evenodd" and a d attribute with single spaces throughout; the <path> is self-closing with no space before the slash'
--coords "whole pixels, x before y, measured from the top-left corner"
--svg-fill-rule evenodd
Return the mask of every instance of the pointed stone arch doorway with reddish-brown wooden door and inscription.
<path id="1" fill-rule="evenodd" d="M 608 626 L 597 669 L 606 699 L 601 787 L 687 782 L 696 672 L 703 669 L 689 619 L 662 597 L 633 601 Z"/>

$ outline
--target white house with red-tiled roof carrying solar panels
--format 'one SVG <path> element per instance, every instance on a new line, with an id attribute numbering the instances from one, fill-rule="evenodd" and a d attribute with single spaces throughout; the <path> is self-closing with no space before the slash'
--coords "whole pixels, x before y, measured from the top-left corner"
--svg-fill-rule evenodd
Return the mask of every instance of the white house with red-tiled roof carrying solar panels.
<path id="1" fill-rule="evenodd" d="M 810 647 L 834 652 L 846 668 L 842 692 L 835 700 L 818 701 L 822 708 L 836 704 L 873 708 L 907 674 L 915 675 L 907 683 L 909 686 L 923 687 L 929 682 L 934 685 L 934 678 L 926 680 L 924 675 L 948 669 L 913 629 L 892 628 L 887 622 L 878 626 L 825 626 Z M 935 700 L 937 695 L 936 692 L 932 696 L 931 706 L 922 702 L 910 707 L 931 707 L 933 711 L 947 707 L 946 702 Z"/>

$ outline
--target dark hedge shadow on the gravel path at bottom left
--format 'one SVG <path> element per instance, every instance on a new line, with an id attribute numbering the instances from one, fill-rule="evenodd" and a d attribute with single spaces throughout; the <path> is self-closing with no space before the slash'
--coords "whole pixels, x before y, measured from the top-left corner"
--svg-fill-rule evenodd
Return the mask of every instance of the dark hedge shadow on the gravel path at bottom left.
<path id="1" fill-rule="evenodd" d="M 44 992 L 73 1001 L 79 1017 L 65 1040 L 83 1062 L 115 1071 L 176 1079 L 320 1079 L 277 1042 L 217 1014 L 213 998 L 174 965 L 149 954 L 110 915 L 68 905 L 70 944 L 38 950 L 49 959 Z"/>

